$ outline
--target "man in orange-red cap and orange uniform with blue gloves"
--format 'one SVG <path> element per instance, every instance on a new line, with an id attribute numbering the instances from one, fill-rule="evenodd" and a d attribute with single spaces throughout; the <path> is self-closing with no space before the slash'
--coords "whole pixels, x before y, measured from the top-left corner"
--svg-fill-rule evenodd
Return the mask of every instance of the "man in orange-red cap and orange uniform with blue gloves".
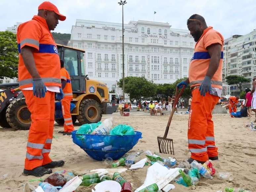
<path id="1" fill-rule="evenodd" d="M 49 157 L 53 138 L 55 93 L 59 100 L 61 88 L 60 58 L 51 34 L 58 20 L 65 16 L 52 3 L 45 1 L 38 7 L 38 15 L 22 23 L 17 30 L 19 48 L 19 85 L 31 112 L 25 158 L 25 175 L 43 176 L 51 168 L 61 167 L 64 161 Z"/>

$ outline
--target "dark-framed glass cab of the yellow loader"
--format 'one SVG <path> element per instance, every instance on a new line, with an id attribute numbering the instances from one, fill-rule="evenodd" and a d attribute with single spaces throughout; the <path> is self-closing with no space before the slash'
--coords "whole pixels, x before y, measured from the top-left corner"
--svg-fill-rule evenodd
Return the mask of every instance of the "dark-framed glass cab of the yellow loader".
<path id="1" fill-rule="evenodd" d="M 73 93 L 86 93 L 85 90 L 85 51 L 57 44 L 60 59 L 64 61 L 64 67 L 71 79 Z"/>

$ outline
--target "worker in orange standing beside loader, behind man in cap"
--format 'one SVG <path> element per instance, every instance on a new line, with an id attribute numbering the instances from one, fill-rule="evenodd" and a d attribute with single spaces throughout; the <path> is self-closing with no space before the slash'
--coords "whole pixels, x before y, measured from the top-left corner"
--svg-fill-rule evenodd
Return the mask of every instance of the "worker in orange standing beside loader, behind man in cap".
<path id="1" fill-rule="evenodd" d="M 61 100 L 62 114 L 64 118 L 64 131 L 59 131 L 63 135 L 71 135 L 74 131 L 70 113 L 70 102 L 73 98 L 71 80 L 67 70 L 64 68 L 64 61 L 61 60 L 61 84 L 64 92 L 64 98 Z"/>

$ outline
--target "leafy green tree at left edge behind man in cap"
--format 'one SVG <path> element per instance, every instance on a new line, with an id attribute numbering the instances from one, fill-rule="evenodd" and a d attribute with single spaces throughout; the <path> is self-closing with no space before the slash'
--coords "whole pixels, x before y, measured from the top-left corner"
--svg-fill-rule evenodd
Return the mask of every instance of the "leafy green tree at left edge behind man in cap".
<path id="1" fill-rule="evenodd" d="M 18 63 L 16 35 L 9 31 L 0 31 L 0 78 L 17 77 Z"/>

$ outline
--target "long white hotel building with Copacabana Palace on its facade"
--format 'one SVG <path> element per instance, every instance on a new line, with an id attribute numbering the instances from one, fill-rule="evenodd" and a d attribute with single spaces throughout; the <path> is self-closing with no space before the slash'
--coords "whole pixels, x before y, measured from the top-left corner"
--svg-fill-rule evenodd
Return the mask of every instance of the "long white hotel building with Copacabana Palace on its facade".
<path id="1" fill-rule="evenodd" d="M 115 89 L 122 78 L 122 23 L 77 19 L 68 45 L 85 50 L 89 77 Z M 125 77 L 144 76 L 156 84 L 188 77 L 194 45 L 188 30 L 163 22 L 130 21 L 124 24 Z"/>

